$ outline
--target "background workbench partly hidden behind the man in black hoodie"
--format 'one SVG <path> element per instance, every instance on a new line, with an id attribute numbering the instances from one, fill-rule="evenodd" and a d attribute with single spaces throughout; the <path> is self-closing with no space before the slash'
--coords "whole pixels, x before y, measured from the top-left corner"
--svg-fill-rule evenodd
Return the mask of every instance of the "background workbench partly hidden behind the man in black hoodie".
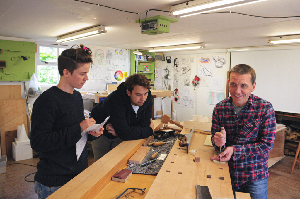
<path id="1" fill-rule="evenodd" d="M 152 119 L 154 119 L 154 99 L 155 98 L 159 98 L 159 97 L 170 97 L 173 95 L 173 91 L 170 90 L 152 90 L 150 89 L 151 94 L 152 94 L 152 102 L 153 102 L 153 106 L 152 106 Z M 108 91 L 113 92 L 113 90 Z M 91 101 L 93 101 L 95 104 L 99 103 L 101 100 L 104 100 L 108 95 L 91 95 L 91 94 L 87 94 L 86 92 L 81 92 L 83 94 L 84 98 L 87 98 Z M 94 104 L 94 105 L 95 105 Z"/>

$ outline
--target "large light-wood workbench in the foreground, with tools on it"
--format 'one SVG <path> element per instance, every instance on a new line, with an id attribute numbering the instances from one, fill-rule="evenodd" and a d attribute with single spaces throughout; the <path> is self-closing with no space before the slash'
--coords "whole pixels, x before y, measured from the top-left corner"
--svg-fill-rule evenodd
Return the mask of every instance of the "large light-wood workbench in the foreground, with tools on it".
<path id="1" fill-rule="evenodd" d="M 155 129 L 161 125 L 154 120 Z M 196 129 L 209 129 L 211 123 L 184 122 L 182 133 L 189 133 L 191 126 Z M 126 168 L 128 159 L 140 148 L 146 139 L 123 141 L 116 148 L 82 171 L 48 198 L 114 198 L 125 189 L 146 188 L 142 195 L 139 190 L 131 193 L 135 198 L 196 198 L 196 184 L 208 186 L 212 198 L 231 198 L 233 192 L 228 164 L 213 163 L 209 157 L 214 155 L 214 148 L 204 146 L 206 135 L 193 134 L 190 149 L 197 149 L 196 156 L 186 153 L 186 147 L 180 148 L 177 140 L 157 176 L 132 174 L 125 182 L 112 181 L 111 177 L 120 169 Z M 194 162 L 200 157 L 200 162 Z M 207 175 L 211 177 L 208 178 Z M 223 180 L 220 180 L 223 177 Z"/>

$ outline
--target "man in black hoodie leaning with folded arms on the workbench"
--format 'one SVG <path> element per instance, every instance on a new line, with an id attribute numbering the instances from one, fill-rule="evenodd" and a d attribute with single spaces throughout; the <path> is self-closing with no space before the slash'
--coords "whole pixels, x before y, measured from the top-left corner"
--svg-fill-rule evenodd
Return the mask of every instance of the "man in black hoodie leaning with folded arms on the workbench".
<path id="1" fill-rule="evenodd" d="M 110 116 L 104 124 L 103 136 L 92 142 L 95 161 L 123 140 L 142 139 L 153 134 L 152 95 L 149 89 L 148 78 L 134 74 L 93 107 L 91 116 L 96 124 Z"/>

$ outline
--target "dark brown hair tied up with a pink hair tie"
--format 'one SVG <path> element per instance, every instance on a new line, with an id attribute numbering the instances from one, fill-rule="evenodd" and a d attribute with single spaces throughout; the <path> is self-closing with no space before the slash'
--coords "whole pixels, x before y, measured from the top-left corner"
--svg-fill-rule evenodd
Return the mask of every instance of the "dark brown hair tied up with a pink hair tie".
<path id="1" fill-rule="evenodd" d="M 58 56 L 57 65 L 60 76 L 63 75 L 64 69 L 67 69 L 73 74 L 73 71 L 76 70 L 80 64 L 93 63 L 91 57 L 92 51 L 89 48 L 83 47 L 84 45 L 80 44 L 80 48 L 68 48 L 62 51 L 61 55 Z"/>

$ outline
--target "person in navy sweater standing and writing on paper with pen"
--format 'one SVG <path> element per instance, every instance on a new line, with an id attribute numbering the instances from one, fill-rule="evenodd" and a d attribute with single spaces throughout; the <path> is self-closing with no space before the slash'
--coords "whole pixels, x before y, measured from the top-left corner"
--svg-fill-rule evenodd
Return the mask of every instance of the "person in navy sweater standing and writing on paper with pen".
<path id="1" fill-rule="evenodd" d="M 33 104 L 30 140 L 32 149 L 40 152 L 35 174 L 39 199 L 47 198 L 88 167 L 86 145 L 78 160 L 75 145 L 95 120 L 85 119 L 82 96 L 74 88 L 82 88 L 88 80 L 91 63 L 91 51 L 84 45 L 64 50 L 58 57 L 58 85 L 43 92 Z M 101 136 L 103 130 L 88 132 L 88 141 Z"/>

